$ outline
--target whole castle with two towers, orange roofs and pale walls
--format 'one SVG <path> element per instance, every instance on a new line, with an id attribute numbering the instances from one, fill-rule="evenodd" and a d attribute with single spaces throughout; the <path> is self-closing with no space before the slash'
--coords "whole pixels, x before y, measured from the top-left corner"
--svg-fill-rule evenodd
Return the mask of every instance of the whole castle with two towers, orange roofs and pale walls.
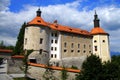
<path id="1" fill-rule="evenodd" d="M 109 34 L 99 24 L 98 15 L 94 15 L 94 27 L 89 32 L 79 28 L 44 21 L 41 10 L 26 24 L 24 50 L 33 49 L 29 60 L 47 64 L 57 64 L 64 58 L 89 56 L 95 54 L 102 60 L 110 60 Z"/>

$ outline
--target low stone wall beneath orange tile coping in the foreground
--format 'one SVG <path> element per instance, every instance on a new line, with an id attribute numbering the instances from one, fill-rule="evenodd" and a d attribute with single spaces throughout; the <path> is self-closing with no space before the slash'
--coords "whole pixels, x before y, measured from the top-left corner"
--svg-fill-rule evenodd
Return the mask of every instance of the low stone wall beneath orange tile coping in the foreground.
<path id="1" fill-rule="evenodd" d="M 49 72 L 46 72 L 46 68 L 40 68 L 40 67 L 35 67 L 35 66 L 30 66 L 28 70 L 28 75 L 31 78 L 35 78 L 37 80 L 46 80 L 43 76 L 48 76 L 52 77 L 55 80 L 62 80 L 61 79 L 61 71 L 59 70 L 51 70 Z M 67 72 L 68 78 L 67 80 L 74 80 L 75 75 L 78 73 L 73 73 L 73 72 Z"/>

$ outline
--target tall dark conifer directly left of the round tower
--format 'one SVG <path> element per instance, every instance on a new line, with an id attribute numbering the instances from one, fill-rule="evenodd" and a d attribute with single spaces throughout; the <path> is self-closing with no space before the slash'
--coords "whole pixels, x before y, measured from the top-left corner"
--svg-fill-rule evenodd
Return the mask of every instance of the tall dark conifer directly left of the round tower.
<path id="1" fill-rule="evenodd" d="M 19 55 L 20 53 L 23 53 L 25 27 L 26 23 L 24 23 L 20 29 L 19 35 L 17 37 L 16 46 L 13 50 L 13 55 Z"/>

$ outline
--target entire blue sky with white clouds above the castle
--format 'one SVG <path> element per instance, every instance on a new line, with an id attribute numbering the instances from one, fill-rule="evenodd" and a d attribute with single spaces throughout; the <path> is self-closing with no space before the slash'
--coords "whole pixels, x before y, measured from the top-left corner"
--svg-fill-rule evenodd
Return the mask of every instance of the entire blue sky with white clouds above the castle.
<path id="1" fill-rule="evenodd" d="M 110 51 L 120 52 L 120 0 L 0 0 L 0 41 L 15 45 L 21 25 L 36 16 L 40 7 L 47 22 L 90 31 L 94 11 L 110 34 Z"/>

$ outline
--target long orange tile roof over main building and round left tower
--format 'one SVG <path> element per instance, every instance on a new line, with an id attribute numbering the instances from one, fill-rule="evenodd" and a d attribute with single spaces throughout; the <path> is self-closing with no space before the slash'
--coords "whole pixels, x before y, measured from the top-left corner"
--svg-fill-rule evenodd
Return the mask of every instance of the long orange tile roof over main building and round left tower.
<path id="1" fill-rule="evenodd" d="M 90 35 L 90 32 L 88 32 L 86 30 L 72 28 L 69 26 L 63 26 L 63 25 L 57 24 L 57 22 L 56 23 L 48 23 L 48 22 L 45 22 L 41 17 L 38 17 L 38 16 L 35 17 L 32 21 L 28 22 L 28 25 L 44 25 L 53 30 L 65 31 L 65 32 L 82 34 L 82 35 Z"/>

